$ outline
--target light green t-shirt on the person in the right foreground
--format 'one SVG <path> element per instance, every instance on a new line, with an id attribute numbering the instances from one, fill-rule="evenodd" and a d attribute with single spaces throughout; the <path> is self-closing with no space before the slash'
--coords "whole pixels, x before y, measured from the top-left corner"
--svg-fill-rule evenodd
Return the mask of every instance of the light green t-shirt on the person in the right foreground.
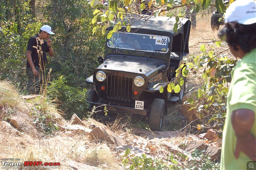
<path id="1" fill-rule="evenodd" d="M 246 169 L 252 161 L 243 152 L 234 156 L 236 135 L 231 124 L 231 113 L 237 109 L 249 109 L 256 113 L 256 49 L 247 53 L 231 72 L 232 80 L 227 98 L 227 116 L 223 130 L 220 169 Z M 255 119 L 256 115 L 254 116 Z M 256 136 L 255 120 L 251 134 Z"/>

